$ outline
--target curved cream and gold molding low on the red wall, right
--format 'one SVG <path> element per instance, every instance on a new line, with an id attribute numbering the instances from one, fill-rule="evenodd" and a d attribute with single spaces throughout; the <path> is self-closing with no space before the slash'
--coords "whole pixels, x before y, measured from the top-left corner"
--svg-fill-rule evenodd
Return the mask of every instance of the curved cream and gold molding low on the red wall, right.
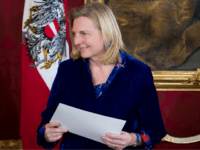
<path id="1" fill-rule="evenodd" d="M 195 142 L 200 142 L 200 134 L 191 136 L 191 137 L 173 137 L 171 135 L 166 135 L 162 141 L 167 141 L 170 143 L 176 143 L 176 144 L 190 144 Z"/>

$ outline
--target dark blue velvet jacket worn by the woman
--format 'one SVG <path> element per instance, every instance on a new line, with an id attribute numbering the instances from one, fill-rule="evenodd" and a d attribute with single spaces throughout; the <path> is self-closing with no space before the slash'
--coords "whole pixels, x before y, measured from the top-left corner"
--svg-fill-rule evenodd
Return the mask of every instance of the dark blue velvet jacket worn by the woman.
<path id="1" fill-rule="evenodd" d="M 150 68 L 137 59 L 123 53 L 123 64 L 112 83 L 99 99 L 95 98 L 94 87 L 86 64 L 82 59 L 69 59 L 59 65 L 47 108 L 42 113 L 38 128 L 37 142 L 44 148 L 52 148 L 55 143 L 44 139 L 44 124 L 48 123 L 59 103 L 67 104 L 89 112 L 126 120 L 123 131 L 146 132 L 152 147 L 166 135 L 159 108 L 157 92 Z M 110 149 L 104 144 L 65 133 L 60 149 Z M 127 147 L 144 149 L 144 147 Z"/>

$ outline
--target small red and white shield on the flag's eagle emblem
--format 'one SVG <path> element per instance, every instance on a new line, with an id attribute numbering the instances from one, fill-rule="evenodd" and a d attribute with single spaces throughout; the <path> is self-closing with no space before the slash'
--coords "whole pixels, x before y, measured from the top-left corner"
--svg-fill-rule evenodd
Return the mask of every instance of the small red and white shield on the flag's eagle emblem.
<path id="1" fill-rule="evenodd" d="M 45 27 L 44 33 L 46 34 L 47 37 L 54 38 L 59 32 L 59 30 L 60 30 L 60 27 L 58 25 L 57 19 L 55 18 L 53 22 L 51 22 Z"/>

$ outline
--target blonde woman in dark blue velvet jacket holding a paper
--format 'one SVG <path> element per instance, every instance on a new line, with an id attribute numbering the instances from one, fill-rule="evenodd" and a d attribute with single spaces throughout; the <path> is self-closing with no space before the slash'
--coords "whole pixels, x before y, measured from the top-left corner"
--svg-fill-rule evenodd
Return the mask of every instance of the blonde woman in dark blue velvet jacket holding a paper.
<path id="1" fill-rule="evenodd" d="M 60 149 L 151 149 L 166 135 L 150 68 L 125 54 L 112 11 L 99 2 L 71 14 L 72 59 L 62 62 L 38 128 L 38 144 Z M 59 103 L 126 120 L 120 135 L 105 144 L 49 123 Z"/>

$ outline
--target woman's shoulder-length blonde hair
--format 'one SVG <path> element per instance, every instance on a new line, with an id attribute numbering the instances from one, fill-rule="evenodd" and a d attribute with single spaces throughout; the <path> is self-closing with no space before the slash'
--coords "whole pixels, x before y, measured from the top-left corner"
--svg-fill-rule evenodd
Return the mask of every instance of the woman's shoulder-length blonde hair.
<path id="1" fill-rule="evenodd" d="M 95 27 L 101 31 L 104 41 L 110 42 L 110 46 L 106 47 L 106 53 L 100 58 L 105 64 L 116 64 L 121 61 L 119 51 L 125 52 L 125 46 L 122 41 L 122 35 L 111 9 L 102 3 L 93 1 L 85 4 L 80 8 L 75 8 L 70 12 L 70 38 L 72 41 L 71 57 L 76 60 L 81 57 L 73 43 L 72 27 L 74 19 L 78 17 L 90 18 Z"/>

